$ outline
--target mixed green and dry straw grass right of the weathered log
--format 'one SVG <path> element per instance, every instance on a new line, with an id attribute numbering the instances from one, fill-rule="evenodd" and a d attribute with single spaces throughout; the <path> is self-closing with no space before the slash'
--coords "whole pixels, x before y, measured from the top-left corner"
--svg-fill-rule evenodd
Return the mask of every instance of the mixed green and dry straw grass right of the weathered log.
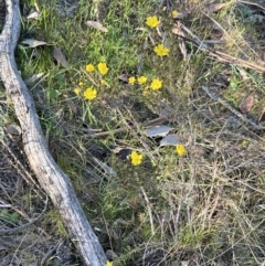
<path id="1" fill-rule="evenodd" d="M 30 8 L 35 3 L 24 2 Z M 236 109 L 254 92 L 255 103 L 247 116 L 255 119 L 264 106 L 264 76 L 245 70 L 248 78 L 244 79 L 241 66 L 210 57 L 189 41 L 189 56 L 183 60 L 171 32 L 177 20 L 171 10 L 155 2 L 84 0 L 73 18 L 62 18 L 56 1 L 40 1 L 41 19 L 23 22 L 21 40 L 30 34 L 49 44 L 31 49 L 19 43 L 17 49 L 24 79 L 44 73 L 29 89 L 49 148 L 70 175 L 92 226 L 99 228 L 96 233 L 104 249 L 117 254 L 114 265 L 261 264 L 264 134 L 247 127 L 226 128 L 232 114 L 210 99 L 201 86 L 209 86 Z M 174 4 L 178 11 L 184 10 Z M 224 9 L 203 15 L 208 6 L 209 1 L 201 1 L 180 21 L 205 40 L 215 21 L 224 30 L 224 43 L 216 44 L 216 50 L 255 60 L 245 41 L 258 40 L 259 25 L 244 22 L 250 7 L 243 10 L 230 1 Z M 155 14 L 170 50 L 165 57 L 153 52 L 162 43 L 157 30 L 145 24 L 147 15 Z M 85 24 L 98 18 L 107 33 Z M 53 46 L 66 56 L 66 67 L 53 61 Z M 96 67 L 100 62 L 109 68 L 105 76 L 97 70 L 86 73 L 86 64 Z M 148 82 L 129 85 L 119 79 L 121 74 L 145 75 Z M 146 91 L 153 78 L 162 81 L 162 88 Z M 80 82 L 82 89 L 97 89 L 97 97 L 86 100 L 76 95 Z M 187 148 L 184 157 L 177 155 L 176 147 L 159 147 L 159 138 L 145 134 L 142 125 L 165 113 L 170 117 L 165 125 L 173 128 Z M 129 127 L 134 129 L 115 131 Z M 92 130 L 109 134 L 93 138 L 87 134 Z M 245 139 L 246 147 L 242 145 Z M 115 152 L 117 148 L 144 155 L 142 163 L 132 166 L 128 156 Z M 52 206 L 40 226 L 54 237 L 68 237 Z"/>

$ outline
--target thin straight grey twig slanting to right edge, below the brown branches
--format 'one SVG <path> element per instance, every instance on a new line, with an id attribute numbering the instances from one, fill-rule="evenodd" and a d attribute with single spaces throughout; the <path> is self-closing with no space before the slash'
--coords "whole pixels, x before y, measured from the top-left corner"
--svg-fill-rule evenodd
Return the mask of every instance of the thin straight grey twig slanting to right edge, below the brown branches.
<path id="1" fill-rule="evenodd" d="M 202 86 L 202 89 L 206 93 L 206 95 L 219 102 L 221 105 L 223 105 L 224 107 L 226 107 L 230 111 L 232 111 L 235 116 L 237 116 L 240 119 L 242 119 L 243 121 L 245 121 L 246 124 L 251 125 L 254 129 L 257 130 L 264 130 L 265 127 L 262 127 L 259 125 L 257 125 L 256 123 L 252 121 L 251 119 L 246 118 L 245 115 L 241 114 L 239 110 L 234 109 L 230 104 L 227 104 L 225 100 L 223 100 L 221 97 L 219 97 L 218 95 L 213 95 L 212 93 L 210 93 L 209 88 L 206 86 Z"/>

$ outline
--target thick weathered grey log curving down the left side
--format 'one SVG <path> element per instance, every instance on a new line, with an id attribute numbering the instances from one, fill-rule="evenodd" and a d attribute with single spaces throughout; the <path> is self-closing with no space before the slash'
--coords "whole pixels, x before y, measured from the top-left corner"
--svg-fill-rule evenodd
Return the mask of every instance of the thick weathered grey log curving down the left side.
<path id="1" fill-rule="evenodd" d="M 105 266 L 106 256 L 75 195 L 70 178 L 46 147 L 33 99 L 14 60 L 21 22 L 19 0 L 6 0 L 7 15 L 0 34 L 0 78 L 20 121 L 24 152 L 38 182 L 57 208 L 84 265 Z"/>

